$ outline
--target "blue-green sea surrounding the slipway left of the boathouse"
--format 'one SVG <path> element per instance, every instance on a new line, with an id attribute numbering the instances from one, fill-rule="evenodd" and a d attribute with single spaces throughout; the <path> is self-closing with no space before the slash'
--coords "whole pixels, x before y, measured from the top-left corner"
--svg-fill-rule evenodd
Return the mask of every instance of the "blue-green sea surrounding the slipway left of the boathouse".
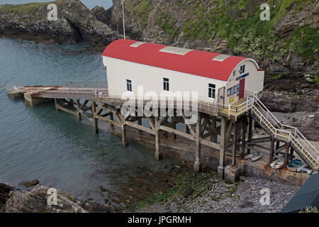
<path id="1" fill-rule="evenodd" d="M 103 132 L 94 135 L 89 121 L 55 111 L 54 104 L 26 106 L 13 101 L 13 85 L 106 82 L 101 53 L 84 52 L 86 43 L 42 45 L 0 38 L 0 182 L 23 180 L 63 189 L 79 199 L 103 203 L 103 186 L 121 192 L 121 182 L 145 172 L 164 172 L 176 161 L 154 160 L 154 151 Z M 134 182 L 133 182 L 134 183 Z M 125 195 L 128 196 L 128 195 Z"/>

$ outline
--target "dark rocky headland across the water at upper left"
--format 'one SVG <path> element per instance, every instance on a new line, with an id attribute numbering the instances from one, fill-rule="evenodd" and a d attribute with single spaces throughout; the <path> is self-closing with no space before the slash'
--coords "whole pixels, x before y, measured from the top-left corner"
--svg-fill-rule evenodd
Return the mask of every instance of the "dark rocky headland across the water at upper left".
<path id="1" fill-rule="evenodd" d="M 105 46 L 118 35 L 78 0 L 52 1 L 57 5 L 57 21 L 47 20 L 47 5 L 30 3 L 0 6 L 0 35 L 42 43 L 77 43 Z"/>

